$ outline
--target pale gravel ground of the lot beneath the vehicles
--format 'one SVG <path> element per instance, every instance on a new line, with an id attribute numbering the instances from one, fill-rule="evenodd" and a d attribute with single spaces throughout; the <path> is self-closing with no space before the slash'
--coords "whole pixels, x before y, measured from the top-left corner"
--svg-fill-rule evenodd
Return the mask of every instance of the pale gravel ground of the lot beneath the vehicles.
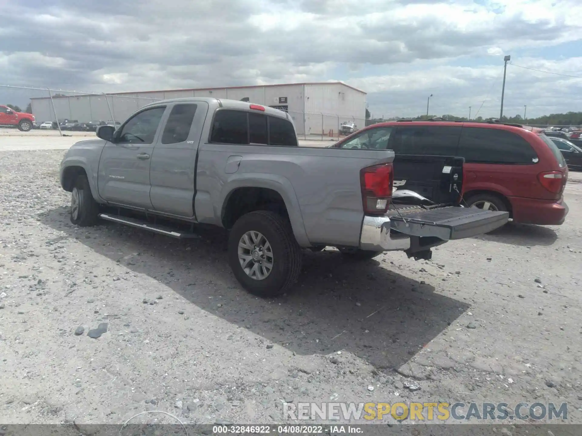
<path id="1" fill-rule="evenodd" d="M 567 402 L 582 423 L 580 174 L 563 226 L 510 224 L 429 262 L 306 252 L 294 292 L 265 300 L 221 231 L 70 224 L 62 154 L 0 152 L 0 423 L 276 423 L 282 401 L 331 400 Z"/>

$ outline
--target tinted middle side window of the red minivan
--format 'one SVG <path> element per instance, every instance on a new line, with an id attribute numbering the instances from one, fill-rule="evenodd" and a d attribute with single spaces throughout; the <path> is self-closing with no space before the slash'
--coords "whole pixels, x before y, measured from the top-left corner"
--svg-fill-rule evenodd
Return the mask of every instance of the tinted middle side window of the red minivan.
<path id="1" fill-rule="evenodd" d="M 461 127 L 399 126 L 394 152 L 402 155 L 457 156 Z"/>

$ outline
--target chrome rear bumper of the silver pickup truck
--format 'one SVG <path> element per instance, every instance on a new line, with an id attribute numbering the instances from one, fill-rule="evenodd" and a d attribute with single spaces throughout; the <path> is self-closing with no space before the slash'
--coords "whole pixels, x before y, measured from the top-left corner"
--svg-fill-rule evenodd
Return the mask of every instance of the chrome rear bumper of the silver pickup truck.
<path id="1" fill-rule="evenodd" d="M 364 216 L 360 248 L 370 251 L 397 251 L 410 248 L 410 237 L 390 234 L 390 218 L 387 216 Z"/>

